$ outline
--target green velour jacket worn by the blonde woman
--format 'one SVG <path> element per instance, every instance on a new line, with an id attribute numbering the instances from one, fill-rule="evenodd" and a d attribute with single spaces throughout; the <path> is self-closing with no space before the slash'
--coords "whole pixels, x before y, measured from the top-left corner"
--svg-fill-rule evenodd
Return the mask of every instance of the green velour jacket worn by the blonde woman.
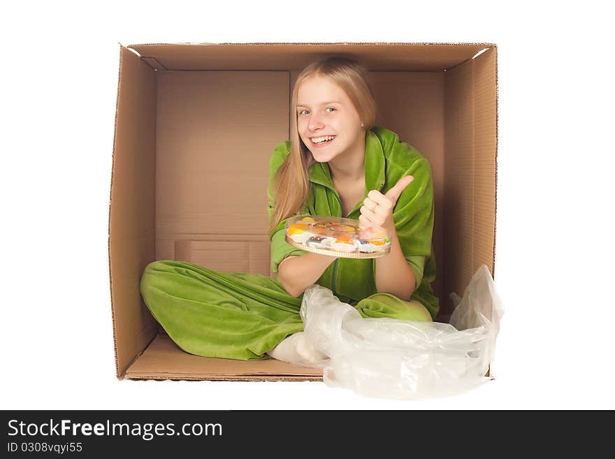
<path id="1" fill-rule="evenodd" d="M 269 218 L 273 217 L 273 177 L 290 152 L 290 142 L 275 147 L 269 163 Z M 433 294 L 431 282 L 435 279 L 435 258 L 431 243 L 433 233 L 433 179 L 431 166 L 414 147 L 400 142 L 396 133 L 379 126 L 366 131 L 365 197 L 372 189 L 386 194 L 401 177 L 412 175 L 408 185 L 393 208 L 393 222 L 403 254 L 417 278 L 412 299 L 418 300 L 433 319 L 440 309 Z M 342 204 L 333 186 L 327 163 L 314 163 L 310 168 L 310 194 L 301 214 L 359 219 L 363 200 L 356 203 L 349 214 L 342 216 Z M 284 240 L 288 219 L 277 225 L 271 241 L 271 269 L 291 255 L 307 252 L 289 245 Z M 323 272 L 317 284 L 333 291 L 344 303 L 356 305 L 360 300 L 377 293 L 375 258 L 337 258 Z"/>

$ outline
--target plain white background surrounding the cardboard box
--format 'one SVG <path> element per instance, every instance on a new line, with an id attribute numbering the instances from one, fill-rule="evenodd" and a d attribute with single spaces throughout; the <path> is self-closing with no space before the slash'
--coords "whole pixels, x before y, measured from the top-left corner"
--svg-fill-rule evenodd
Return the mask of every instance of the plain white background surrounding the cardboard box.
<path id="1" fill-rule="evenodd" d="M 3 7 L 2 409 L 615 408 L 605 2 L 205 3 Z M 410 402 L 314 382 L 116 379 L 107 238 L 118 42 L 190 41 L 497 43 L 495 282 L 506 309 L 494 381 Z"/>

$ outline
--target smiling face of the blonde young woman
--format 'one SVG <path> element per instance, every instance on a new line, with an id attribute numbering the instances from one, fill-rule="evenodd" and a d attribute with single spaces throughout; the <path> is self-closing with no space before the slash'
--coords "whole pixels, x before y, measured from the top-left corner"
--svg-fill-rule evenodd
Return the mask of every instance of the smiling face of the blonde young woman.
<path id="1" fill-rule="evenodd" d="M 359 113 L 347 94 L 319 75 L 310 76 L 298 88 L 297 130 L 319 163 L 348 158 L 365 138 Z"/>

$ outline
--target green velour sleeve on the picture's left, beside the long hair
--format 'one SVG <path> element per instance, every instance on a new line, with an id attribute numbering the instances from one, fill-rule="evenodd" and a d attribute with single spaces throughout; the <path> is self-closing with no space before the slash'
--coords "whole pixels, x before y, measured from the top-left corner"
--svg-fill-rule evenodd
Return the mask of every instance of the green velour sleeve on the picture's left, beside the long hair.
<path id="1" fill-rule="evenodd" d="M 268 221 L 271 221 L 271 219 L 273 218 L 273 177 L 275 177 L 277 169 L 282 166 L 282 163 L 287 158 L 289 154 L 289 148 L 290 143 L 288 141 L 281 143 L 280 145 L 275 147 L 273 155 L 271 156 L 271 159 L 269 161 L 269 187 L 267 190 L 267 196 L 269 201 Z M 275 227 L 273 233 L 269 234 L 269 240 L 271 242 L 271 271 L 275 274 L 277 274 L 278 272 L 278 265 L 280 265 L 282 260 L 284 260 L 284 258 L 287 258 L 287 256 L 303 255 L 307 253 L 305 252 L 305 250 L 293 247 L 284 239 L 284 228 L 286 227 L 286 222 L 288 220 L 289 219 L 287 218 L 280 221 L 280 224 Z"/>

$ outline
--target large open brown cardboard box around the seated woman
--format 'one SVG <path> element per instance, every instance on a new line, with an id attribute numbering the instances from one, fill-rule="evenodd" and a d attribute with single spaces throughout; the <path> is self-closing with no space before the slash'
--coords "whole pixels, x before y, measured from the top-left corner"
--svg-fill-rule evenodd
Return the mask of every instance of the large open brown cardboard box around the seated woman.
<path id="1" fill-rule="evenodd" d="M 139 280 L 147 263 L 160 259 L 271 274 L 269 157 L 289 138 L 296 76 L 330 54 L 366 65 L 382 114 L 378 124 L 431 162 L 437 320 L 448 320 L 449 293 L 461 295 L 479 265 L 493 274 L 495 45 L 120 45 L 109 214 L 119 379 L 322 379 L 321 370 L 273 359 L 244 362 L 185 353 L 154 321 L 140 298 Z"/>

